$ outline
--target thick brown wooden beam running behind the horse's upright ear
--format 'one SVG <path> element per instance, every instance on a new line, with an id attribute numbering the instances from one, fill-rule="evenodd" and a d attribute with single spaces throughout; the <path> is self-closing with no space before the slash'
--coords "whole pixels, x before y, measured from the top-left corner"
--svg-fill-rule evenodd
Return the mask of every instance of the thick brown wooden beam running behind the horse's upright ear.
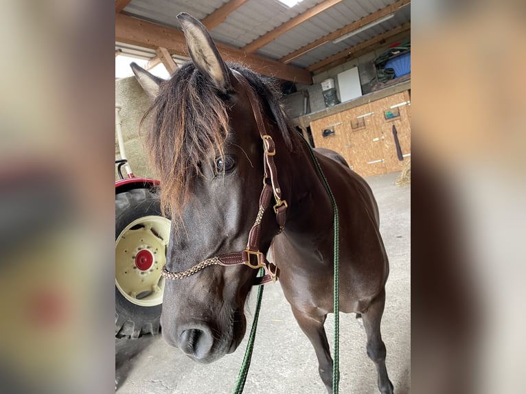
<path id="1" fill-rule="evenodd" d="M 179 30 L 124 14 L 115 14 L 115 41 L 150 49 L 164 47 L 170 54 L 188 56 L 185 36 Z M 217 47 L 225 60 L 240 62 L 257 73 L 282 80 L 312 83 L 310 71 L 306 69 L 284 65 L 282 62 L 263 56 L 245 54 L 241 49 L 228 45 L 217 44 Z"/>

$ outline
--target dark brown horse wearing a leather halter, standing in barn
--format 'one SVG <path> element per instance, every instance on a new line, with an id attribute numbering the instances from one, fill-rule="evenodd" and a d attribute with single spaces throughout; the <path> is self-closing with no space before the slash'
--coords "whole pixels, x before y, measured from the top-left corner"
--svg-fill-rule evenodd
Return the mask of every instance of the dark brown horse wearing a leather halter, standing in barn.
<path id="1" fill-rule="evenodd" d="M 332 393 L 333 361 L 323 327 L 333 312 L 330 196 L 273 80 L 225 62 L 189 14 L 177 19 L 190 62 L 165 81 L 132 65 L 153 99 L 144 117 L 151 125 L 146 147 L 161 181 L 161 204 L 172 213 L 163 339 L 196 362 L 232 353 L 246 331 L 244 304 L 252 286 L 279 279 Z M 330 150 L 314 154 L 343 223 L 340 310 L 362 314 L 378 389 L 391 394 L 380 334 L 389 263 L 378 206 L 343 157 Z"/>

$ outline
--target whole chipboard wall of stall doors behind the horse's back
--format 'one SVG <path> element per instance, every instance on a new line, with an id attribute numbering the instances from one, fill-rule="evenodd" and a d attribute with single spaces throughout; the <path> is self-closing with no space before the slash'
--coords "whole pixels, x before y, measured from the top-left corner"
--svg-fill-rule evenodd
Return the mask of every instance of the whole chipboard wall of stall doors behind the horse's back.
<path id="1" fill-rule="evenodd" d="M 391 114 L 387 114 L 386 119 L 388 111 Z M 312 120 L 310 130 L 317 148 L 339 152 L 361 176 L 387 174 L 402 170 L 404 165 L 396 153 L 393 125 L 398 132 L 402 154 L 404 157 L 411 155 L 410 111 L 409 92 L 402 91 Z M 325 129 L 334 130 L 334 135 L 323 137 Z"/>

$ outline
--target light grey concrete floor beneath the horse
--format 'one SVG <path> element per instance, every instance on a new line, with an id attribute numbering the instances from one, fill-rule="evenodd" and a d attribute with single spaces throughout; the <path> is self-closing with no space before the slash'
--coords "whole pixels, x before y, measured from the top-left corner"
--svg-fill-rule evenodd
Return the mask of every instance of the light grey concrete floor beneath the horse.
<path id="1" fill-rule="evenodd" d="M 395 393 L 409 393 L 411 357 L 411 186 L 399 173 L 367 178 L 380 207 L 381 233 L 391 270 L 382 336 Z M 255 292 L 247 303 L 247 333 Z M 332 344 L 333 316 L 325 328 Z M 116 340 L 117 394 L 230 393 L 242 364 L 248 334 L 236 352 L 213 364 L 192 362 L 162 338 Z M 365 353 L 365 331 L 354 314 L 340 317 L 340 392 L 378 393 L 376 369 Z M 310 342 L 299 329 L 279 283 L 266 285 L 251 369 L 244 393 L 325 393 Z"/>

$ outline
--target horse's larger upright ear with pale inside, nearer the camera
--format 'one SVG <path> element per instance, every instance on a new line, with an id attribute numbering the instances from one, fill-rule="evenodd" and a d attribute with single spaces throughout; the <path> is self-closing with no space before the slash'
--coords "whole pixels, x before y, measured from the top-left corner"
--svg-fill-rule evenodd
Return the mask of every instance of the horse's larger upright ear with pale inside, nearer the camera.
<path id="1" fill-rule="evenodd" d="M 206 27 L 186 12 L 177 15 L 177 19 L 183 27 L 188 52 L 194 65 L 219 91 L 226 92 L 230 88 L 228 67 L 222 60 Z"/>

